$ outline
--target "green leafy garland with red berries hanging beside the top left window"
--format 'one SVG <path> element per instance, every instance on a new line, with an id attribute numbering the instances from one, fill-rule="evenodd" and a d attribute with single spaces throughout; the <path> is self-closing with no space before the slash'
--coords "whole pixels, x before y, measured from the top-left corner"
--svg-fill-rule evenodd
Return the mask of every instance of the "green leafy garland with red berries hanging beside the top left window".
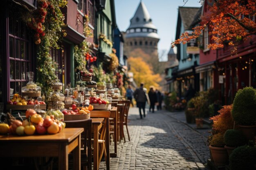
<path id="1" fill-rule="evenodd" d="M 37 48 L 37 84 L 42 88 L 42 93 L 49 95 L 52 91 L 51 84 L 58 79 L 56 69 L 58 64 L 52 61 L 49 54 L 50 48 L 59 49 L 59 38 L 66 35 L 61 26 L 64 17 L 60 7 L 67 5 L 67 0 L 38 0 L 38 8 L 34 11 L 22 11 L 21 18 L 34 34 Z"/>

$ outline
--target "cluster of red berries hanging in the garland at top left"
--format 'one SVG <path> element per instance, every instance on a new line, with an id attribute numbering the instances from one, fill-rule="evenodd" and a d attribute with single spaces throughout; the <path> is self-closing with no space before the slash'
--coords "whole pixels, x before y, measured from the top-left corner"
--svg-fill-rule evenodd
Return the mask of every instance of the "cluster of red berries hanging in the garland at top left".
<path id="1" fill-rule="evenodd" d="M 40 44 L 40 37 L 45 36 L 45 32 L 43 30 L 43 23 L 45 22 L 45 15 L 47 14 L 47 7 L 49 6 L 49 2 L 46 0 L 38 0 L 38 8 L 36 9 L 36 18 L 32 18 L 29 23 L 29 27 L 36 31 L 34 34 L 35 44 Z"/>

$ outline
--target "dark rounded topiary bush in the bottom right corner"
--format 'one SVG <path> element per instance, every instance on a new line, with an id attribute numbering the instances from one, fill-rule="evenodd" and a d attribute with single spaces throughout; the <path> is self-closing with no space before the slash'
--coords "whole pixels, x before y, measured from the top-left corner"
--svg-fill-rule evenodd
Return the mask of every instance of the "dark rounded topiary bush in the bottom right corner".
<path id="1" fill-rule="evenodd" d="M 255 164 L 256 148 L 252 146 L 240 146 L 229 156 L 231 170 L 255 170 Z"/>

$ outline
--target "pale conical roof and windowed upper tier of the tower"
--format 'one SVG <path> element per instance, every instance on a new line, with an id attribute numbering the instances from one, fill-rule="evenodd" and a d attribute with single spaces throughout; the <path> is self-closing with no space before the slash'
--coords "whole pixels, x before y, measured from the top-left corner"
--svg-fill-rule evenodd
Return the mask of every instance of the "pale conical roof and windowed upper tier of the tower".
<path id="1" fill-rule="evenodd" d="M 139 6 L 130 20 L 130 26 L 126 30 L 126 38 L 132 37 L 149 37 L 159 39 L 157 28 L 152 23 L 145 4 L 141 1 Z"/>

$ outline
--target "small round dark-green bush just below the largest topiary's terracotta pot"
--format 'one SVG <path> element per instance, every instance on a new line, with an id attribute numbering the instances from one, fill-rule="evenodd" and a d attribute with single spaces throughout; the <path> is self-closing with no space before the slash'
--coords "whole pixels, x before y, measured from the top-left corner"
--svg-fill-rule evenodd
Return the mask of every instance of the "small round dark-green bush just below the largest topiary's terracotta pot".
<path id="1" fill-rule="evenodd" d="M 230 155 L 232 151 L 238 147 L 246 144 L 246 138 L 240 130 L 228 129 L 224 134 L 225 148 Z"/>

